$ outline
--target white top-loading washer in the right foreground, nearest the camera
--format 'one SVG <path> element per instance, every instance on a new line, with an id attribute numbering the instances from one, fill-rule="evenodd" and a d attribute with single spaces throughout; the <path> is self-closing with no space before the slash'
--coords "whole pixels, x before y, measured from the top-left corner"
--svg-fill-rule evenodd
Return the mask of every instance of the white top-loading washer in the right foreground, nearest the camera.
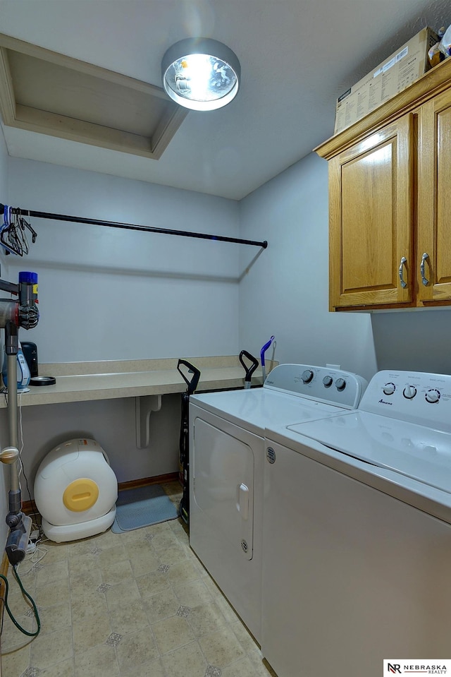
<path id="1" fill-rule="evenodd" d="M 266 436 L 261 649 L 278 677 L 450 659 L 451 376 L 381 371 L 357 412 Z"/>

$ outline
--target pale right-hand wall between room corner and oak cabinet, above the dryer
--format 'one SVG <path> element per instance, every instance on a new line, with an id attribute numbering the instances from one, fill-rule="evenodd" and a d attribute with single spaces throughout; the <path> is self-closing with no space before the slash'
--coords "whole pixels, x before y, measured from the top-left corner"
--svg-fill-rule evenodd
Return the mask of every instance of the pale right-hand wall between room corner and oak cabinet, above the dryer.
<path id="1" fill-rule="evenodd" d="M 242 237 L 268 240 L 240 284 L 240 348 L 258 357 L 275 335 L 280 362 L 371 378 L 369 314 L 328 312 L 327 162 L 311 154 L 261 186 L 240 203 L 240 221 Z"/>

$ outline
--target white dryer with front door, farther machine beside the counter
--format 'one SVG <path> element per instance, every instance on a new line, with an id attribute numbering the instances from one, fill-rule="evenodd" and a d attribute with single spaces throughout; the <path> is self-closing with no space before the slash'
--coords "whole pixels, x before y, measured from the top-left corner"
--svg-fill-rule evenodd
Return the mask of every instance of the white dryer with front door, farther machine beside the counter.
<path id="1" fill-rule="evenodd" d="M 190 546 L 261 642 L 264 429 L 353 409 L 366 381 L 281 364 L 263 388 L 190 397 Z"/>

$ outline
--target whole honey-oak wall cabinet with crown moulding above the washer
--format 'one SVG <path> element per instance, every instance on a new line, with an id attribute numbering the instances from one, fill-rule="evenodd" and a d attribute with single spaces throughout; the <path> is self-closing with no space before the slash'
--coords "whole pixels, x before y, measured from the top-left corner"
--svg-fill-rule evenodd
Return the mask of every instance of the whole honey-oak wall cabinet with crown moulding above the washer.
<path id="1" fill-rule="evenodd" d="M 315 150 L 330 310 L 451 304 L 451 59 Z"/>

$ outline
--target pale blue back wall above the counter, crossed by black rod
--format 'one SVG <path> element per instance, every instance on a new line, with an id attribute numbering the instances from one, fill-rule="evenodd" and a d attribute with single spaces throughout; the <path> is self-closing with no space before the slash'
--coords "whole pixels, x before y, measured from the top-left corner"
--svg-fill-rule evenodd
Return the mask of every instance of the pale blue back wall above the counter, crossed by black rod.
<path id="1" fill-rule="evenodd" d="M 32 210 L 237 236 L 233 200 L 11 158 L 9 200 Z M 25 260 L 39 275 L 42 362 L 231 355 L 238 249 L 218 241 L 33 220 Z"/>

